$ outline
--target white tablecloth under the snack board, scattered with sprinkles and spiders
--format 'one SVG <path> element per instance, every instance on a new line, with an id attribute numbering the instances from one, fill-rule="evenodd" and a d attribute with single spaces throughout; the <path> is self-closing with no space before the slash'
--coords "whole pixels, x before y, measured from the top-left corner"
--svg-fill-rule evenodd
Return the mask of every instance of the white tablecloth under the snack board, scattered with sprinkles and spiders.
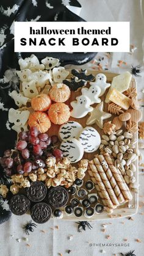
<path id="1" fill-rule="evenodd" d="M 142 0 L 143 1 L 143 0 Z M 144 24 L 140 12 L 139 0 L 79 0 L 82 4 L 81 16 L 88 21 L 131 21 L 131 43 L 137 47 L 134 54 L 114 53 L 110 71 L 123 72 L 130 70 L 131 64 L 143 64 L 142 40 L 144 36 Z M 143 11 L 144 12 L 144 11 Z M 128 65 L 123 68 L 117 67 L 117 61 L 124 60 Z M 143 70 L 143 68 L 142 68 Z M 144 71 L 142 78 L 137 78 L 139 98 L 142 98 L 144 88 Z M 140 172 L 140 196 L 144 195 L 144 174 Z M 71 221 L 49 221 L 46 224 L 38 225 L 34 233 L 26 236 L 21 228 L 30 216 L 24 215 L 12 218 L 0 225 L 0 255 L 1 256 L 57 256 L 68 255 L 67 250 L 71 250 L 71 256 L 100 256 L 101 250 L 106 252 L 106 256 L 120 255 L 120 252 L 135 250 L 135 255 L 143 256 L 144 252 L 144 197 L 140 197 L 140 205 L 134 221 L 128 219 L 112 220 L 108 222 L 106 233 L 102 232 L 105 221 L 93 221 L 92 230 L 77 232 L 77 224 Z M 59 229 L 56 226 L 59 226 Z M 43 230 L 43 231 L 41 231 Z M 73 235 L 70 241 L 69 237 Z M 106 236 L 111 239 L 107 240 Z M 25 241 L 24 238 L 29 238 Z M 20 239 L 18 243 L 17 239 Z M 128 241 L 124 241 L 127 239 Z M 137 243 L 137 239 L 142 243 Z M 105 247 L 102 244 L 105 243 Z M 29 244 L 29 246 L 27 245 Z M 99 246 L 98 246 L 99 244 Z M 101 246 L 100 246 L 101 244 Z M 111 244 L 111 246 L 110 246 Z M 123 244 L 121 247 L 116 244 Z"/>

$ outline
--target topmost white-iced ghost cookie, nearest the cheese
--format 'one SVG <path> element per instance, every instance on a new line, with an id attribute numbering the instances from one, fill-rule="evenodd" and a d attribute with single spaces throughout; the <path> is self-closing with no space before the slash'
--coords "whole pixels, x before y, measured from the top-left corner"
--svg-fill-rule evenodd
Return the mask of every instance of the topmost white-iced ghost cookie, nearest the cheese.
<path id="1" fill-rule="evenodd" d="M 99 86 L 101 88 L 99 97 L 101 97 L 106 92 L 106 89 L 110 87 L 110 84 L 107 83 L 107 77 L 99 73 L 96 75 L 95 82 L 90 82 L 90 86 Z"/>

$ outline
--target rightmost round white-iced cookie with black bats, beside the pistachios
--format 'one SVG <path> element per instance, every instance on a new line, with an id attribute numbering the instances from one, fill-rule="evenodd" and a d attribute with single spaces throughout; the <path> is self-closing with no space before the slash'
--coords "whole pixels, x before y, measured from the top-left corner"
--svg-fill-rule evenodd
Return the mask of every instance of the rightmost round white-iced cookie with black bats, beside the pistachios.
<path id="1" fill-rule="evenodd" d="M 81 142 L 84 152 L 95 152 L 101 144 L 101 137 L 95 128 L 87 126 L 79 135 L 79 142 Z"/>

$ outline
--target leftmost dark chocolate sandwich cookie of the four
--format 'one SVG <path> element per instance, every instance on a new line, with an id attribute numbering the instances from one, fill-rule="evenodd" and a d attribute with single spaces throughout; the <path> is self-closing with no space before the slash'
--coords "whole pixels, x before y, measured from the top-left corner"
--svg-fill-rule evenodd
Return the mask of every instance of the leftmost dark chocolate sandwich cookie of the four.
<path id="1" fill-rule="evenodd" d="M 24 195 L 16 195 L 10 199 L 10 211 L 15 215 L 23 215 L 30 208 L 30 200 Z"/>

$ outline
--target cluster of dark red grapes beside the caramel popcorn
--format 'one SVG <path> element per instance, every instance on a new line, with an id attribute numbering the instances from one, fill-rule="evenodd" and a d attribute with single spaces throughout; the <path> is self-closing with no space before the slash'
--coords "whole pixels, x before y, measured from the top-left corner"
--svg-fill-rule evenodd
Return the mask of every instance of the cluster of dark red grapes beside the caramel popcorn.
<path id="1" fill-rule="evenodd" d="M 29 131 L 21 131 L 18 137 L 16 150 L 5 150 L 4 156 L 0 158 L 0 164 L 8 177 L 37 170 L 38 163 L 45 162 L 49 156 L 63 157 L 62 151 L 55 147 L 58 137 L 40 133 L 35 126 Z"/>

